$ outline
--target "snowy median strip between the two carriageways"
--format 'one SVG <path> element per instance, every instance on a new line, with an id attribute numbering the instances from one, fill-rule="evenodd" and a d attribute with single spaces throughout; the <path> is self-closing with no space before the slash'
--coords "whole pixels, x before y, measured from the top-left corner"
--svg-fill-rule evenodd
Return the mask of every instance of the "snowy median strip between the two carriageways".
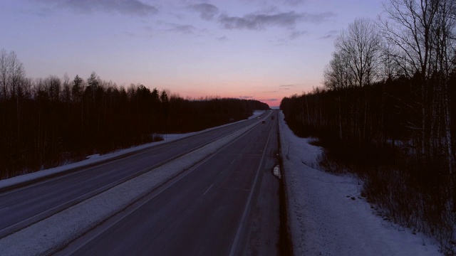
<path id="1" fill-rule="evenodd" d="M 108 191 L 56 213 L 6 238 L 2 238 L 0 240 L 0 255 L 53 254 L 68 242 L 100 225 L 100 223 L 119 213 L 166 181 L 185 171 L 191 171 L 192 166 L 195 166 L 195 164 L 210 154 L 214 154 L 222 146 L 247 132 L 254 125 L 257 125 L 257 123 L 218 139 L 185 156 L 181 156 L 175 161 L 110 188 Z M 139 147 L 142 148 L 142 146 Z M 115 154 L 118 154 L 118 152 Z M 98 156 L 95 159 L 102 157 Z"/>

